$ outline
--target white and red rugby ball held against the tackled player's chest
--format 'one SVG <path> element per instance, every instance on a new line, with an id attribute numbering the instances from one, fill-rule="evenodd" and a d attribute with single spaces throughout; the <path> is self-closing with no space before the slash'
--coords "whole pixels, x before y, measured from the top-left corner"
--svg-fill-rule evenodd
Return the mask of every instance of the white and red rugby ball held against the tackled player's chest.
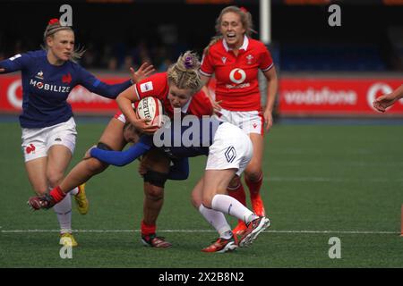
<path id="1" fill-rule="evenodd" d="M 137 105 L 136 113 L 141 119 L 150 119 L 150 122 L 148 122 L 150 125 L 160 127 L 164 124 L 162 103 L 156 97 L 141 98 L 139 105 Z"/>

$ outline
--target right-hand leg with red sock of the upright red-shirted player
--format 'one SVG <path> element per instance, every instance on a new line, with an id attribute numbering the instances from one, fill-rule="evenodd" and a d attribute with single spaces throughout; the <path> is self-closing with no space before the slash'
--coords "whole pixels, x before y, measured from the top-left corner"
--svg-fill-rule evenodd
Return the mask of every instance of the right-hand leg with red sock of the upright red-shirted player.
<path id="1" fill-rule="evenodd" d="M 257 133 L 249 134 L 253 143 L 253 157 L 244 171 L 244 181 L 248 186 L 251 196 L 253 212 L 264 216 L 266 214 L 261 197 L 262 188 L 262 156 L 263 156 L 263 137 Z"/>

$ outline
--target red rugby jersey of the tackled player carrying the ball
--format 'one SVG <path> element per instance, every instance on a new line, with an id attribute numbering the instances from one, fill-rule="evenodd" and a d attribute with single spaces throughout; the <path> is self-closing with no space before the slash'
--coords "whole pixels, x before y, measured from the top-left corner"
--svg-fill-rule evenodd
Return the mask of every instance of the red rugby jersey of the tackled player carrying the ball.
<path id="1" fill-rule="evenodd" d="M 164 106 L 164 111 L 169 117 L 174 116 L 174 108 L 169 103 L 167 95 L 169 92 L 169 86 L 167 82 L 167 72 L 159 72 L 151 75 L 150 77 L 141 80 L 134 85 L 136 96 L 141 99 L 143 97 L 157 97 Z M 139 103 L 136 102 L 137 107 Z M 212 105 L 209 97 L 201 90 L 197 92 L 189 100 L 187 105 L 182 107 L 183 114 L 193 114 L 198 117 L 202 115 L 210 115 L 213 112 Z M 122 114 L 118 112 L 115 114 L 115 118 L 118 118 Z"/>

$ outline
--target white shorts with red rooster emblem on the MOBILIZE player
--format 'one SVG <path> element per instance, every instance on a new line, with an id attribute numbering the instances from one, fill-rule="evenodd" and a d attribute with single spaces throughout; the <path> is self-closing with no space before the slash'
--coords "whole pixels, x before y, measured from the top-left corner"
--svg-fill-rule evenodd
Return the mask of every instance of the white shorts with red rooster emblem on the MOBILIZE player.
<path id="1" fill-rule="evenodd" d="M 74 153 L 77 130 L 71 117 L 62 122 L 45 128 L 22 128 L 22 152 L 25 162 L 47 156 L 47 150 L 54 145 L 68 147 Z"/>

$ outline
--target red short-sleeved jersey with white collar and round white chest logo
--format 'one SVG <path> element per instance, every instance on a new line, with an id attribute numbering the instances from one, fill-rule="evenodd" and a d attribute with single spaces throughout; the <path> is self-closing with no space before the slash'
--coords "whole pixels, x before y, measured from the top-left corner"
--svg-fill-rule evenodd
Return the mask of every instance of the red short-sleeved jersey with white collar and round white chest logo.
<path id="1" fill-rule="evenodd" d="M 216 76 L 216 100 L 223 108 L 233 111 L 260 111 L 258 69 L 269 71 L 273 60 L 264 44 L 244 37 L 238 55 L 228 48 L 224 39 L 210 46 L 201 61 L 201 74 Z"/>

